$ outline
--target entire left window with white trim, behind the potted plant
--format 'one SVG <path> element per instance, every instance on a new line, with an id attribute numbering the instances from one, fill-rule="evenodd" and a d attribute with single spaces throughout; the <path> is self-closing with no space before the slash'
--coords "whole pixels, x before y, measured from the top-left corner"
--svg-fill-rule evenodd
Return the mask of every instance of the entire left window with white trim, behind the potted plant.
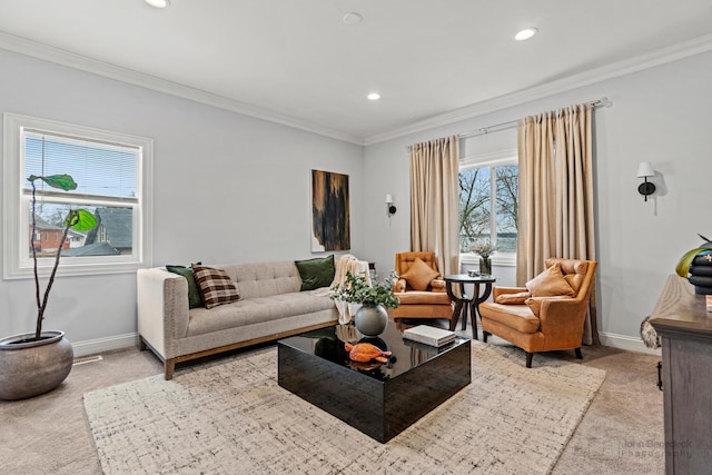
<path id="1" fill-rule="evenodd" d="M 151 265 L 152 140 L 81 126 L 4 113 L 4 278 L 40 273 L 57 253 L 63 275 L 135 271 Z M 37 180 L 32 216 L 30 175 L 71 175 L 77 189 L 62 191 Z M 73 208 L 95 215 L 96 228 L 71 230 L 60 249 L 62 221 Z M 32 239 L 32 219 L 37 236 Z M 51 238 L 50 238 L 51 237 Z"/>

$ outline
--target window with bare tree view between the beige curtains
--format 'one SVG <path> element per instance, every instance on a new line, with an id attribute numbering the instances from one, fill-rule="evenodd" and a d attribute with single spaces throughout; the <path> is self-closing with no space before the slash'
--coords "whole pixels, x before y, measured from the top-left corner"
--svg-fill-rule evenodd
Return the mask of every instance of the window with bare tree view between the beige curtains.
<path id="1" fill-rule="evenodd" d="M 459 247 L 496 246 L 501 264 L 514 264 L 517 239 L 518 167 L 516 151 L 465 158 L 459 167 Z M 466 260 L 466 259 L 463 259 Z"/>

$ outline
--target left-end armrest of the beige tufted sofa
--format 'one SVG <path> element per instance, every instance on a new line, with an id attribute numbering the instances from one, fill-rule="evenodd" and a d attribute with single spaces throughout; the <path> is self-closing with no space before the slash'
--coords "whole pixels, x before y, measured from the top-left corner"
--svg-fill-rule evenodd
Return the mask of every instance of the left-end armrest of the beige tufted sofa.
<path id="1" fill-rule="evenodd" d="M 188 281 L 160 268 L 137 271 L 138 333 L 165 358 L 188 334 Z"/>

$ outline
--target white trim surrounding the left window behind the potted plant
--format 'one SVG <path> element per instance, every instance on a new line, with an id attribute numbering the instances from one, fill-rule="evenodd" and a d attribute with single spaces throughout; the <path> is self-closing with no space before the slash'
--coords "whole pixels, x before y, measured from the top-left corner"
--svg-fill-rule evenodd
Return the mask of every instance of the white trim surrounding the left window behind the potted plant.
<path id="1" fill-rule="evenodd" d="M 138 244 L 134 256 L 111 256 L 98 258 L 62 257 L 57 275 L 99 275 L 134 273 L 139 268 L 152 266 L 152 164 L 154 140 L 145 137 L 111 132 L 83 126 L 39 119 L 17 113 L 3 113 L 3 159 L 2 159 L 2 232 L 3 232 L 3 279 L 23 279 L 33 276 L 31 266 L 21 265 L 20 249 L 23 239 L 21 229 L 28 229 L 29 218 L 22 209 L 21 194 L 26 177 L 21 162 L 21 131 L 22 129 L 48 130 L 68 136 L 87 137 L 106 142 L 122 144 L 141 150 L 137 166 L 137 195 L 139 206 L 134 214 L 135 243 Z M 27 234 L 27 232 L 26 232 Z M 29 234 L 28 239 L 29 239 Z M 88 260 L 89 259 L 89 260 Z M 39 274 L 48 276 L 53 259 L 42 259 Z M 31 263 L 31 259 L 30 259 Z"/>

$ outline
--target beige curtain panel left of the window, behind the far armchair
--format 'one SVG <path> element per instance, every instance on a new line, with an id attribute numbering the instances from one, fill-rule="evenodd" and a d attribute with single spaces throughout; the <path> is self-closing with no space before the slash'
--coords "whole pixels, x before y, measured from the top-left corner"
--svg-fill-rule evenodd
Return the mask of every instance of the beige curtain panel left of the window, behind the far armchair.
<path id="1" fill-rule="evenodd" d="M 411 250 L 435 253 L 443 275 L 459 271 L 459 139 L 411 146 Z"/>

